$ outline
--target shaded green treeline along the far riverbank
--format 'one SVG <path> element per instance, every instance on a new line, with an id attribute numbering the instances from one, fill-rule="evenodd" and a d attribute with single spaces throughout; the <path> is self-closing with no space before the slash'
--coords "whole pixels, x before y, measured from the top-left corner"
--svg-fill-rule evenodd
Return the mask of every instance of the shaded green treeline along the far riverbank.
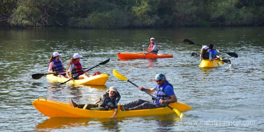
<path id="1" fill-rule="evenodd" d="M 0 26 L 256 26 L 264 0 L 0 0 Z"/>

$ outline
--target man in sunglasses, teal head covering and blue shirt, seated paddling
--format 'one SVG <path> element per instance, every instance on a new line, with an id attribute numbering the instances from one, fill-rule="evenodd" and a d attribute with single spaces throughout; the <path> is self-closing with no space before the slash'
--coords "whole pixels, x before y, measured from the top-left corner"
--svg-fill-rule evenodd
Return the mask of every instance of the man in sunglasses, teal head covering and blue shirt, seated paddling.
<path id="1" fill-rule="evenodd" d="M 140 91 L 146 91 L 148 93 L 155 92 L 155 97 L 160 100 L 155 100 L 153 102 L 138 99 L 136 101 L 130 102 L 128 104 L 123 104 L 121 110 L 143 110 L 143 109 L 155 109 L 166 107 L 162 103 L 174 103 L 177 102 L 177 98 L 173 91 L 173 86 L 167 81 L 164 74 L 157 74 L 155 77 L 157 85 L 154 88 L 148 89 L 139 86 Z"/>

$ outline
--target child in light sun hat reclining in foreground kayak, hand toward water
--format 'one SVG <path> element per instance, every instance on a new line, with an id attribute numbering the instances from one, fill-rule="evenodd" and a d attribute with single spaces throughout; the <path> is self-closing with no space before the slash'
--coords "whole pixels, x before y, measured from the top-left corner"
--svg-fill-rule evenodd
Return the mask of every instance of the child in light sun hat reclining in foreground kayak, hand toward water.
<path id="1" fill-rule="evenodd" d="M 119 102 L 121 96 L 117 91 L 116 87 L 111 86 L 109 90 L 105 92 L 102 97 L 95 102 L 95 104 L 75 104 L 72 99 L 70 99 L 69 104 L 71 107 L 78 107 L 85 110 L 112 110 L 115 109 L 114 114 L 110 118 L 114 118 L 118 113 L 117 103 Z M 99 103 L 99 104 L 98 104 Z"/>

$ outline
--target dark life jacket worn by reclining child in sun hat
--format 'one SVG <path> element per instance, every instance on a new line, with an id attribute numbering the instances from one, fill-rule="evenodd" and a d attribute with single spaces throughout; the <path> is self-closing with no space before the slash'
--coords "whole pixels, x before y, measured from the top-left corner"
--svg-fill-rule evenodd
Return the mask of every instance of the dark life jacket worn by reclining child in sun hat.
<path id="1" fill-rule="evenodd" d="M 115 108 L 114 104 L 117 106 L 121 96 L 119 92 L 116 93 L 115 96 L 109 97 L 109 93 L 102 95 L 101 102 L 99 103 L 98 107 L 104 107 L 105 110 L 112 110 Z"/>

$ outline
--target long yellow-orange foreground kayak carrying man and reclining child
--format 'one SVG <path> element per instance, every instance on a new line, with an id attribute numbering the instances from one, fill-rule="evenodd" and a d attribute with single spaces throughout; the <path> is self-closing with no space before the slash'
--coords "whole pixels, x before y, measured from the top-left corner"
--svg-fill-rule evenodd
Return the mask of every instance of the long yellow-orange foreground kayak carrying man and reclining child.
<path id="1" fill-rule="evenodd" d="M 46 98 L 38 98 L 37 100 L 32 102 L 32 105 L 43 115 L 49 117 L 109 118 L 114 114 L 115 111 L 115 110 L 110 110 L 110 111 L 83 110 L 79 108 L 70 107 L 70 104 L 47 100 Z M 178 102 L 178 104 L 170 103 L 169 106 L 172 108 L 176 108 L 180 112 L 184 112 L 192 109 L 187 104 L 181 102 Z M 116 118 L 156 116 L 156 115 L 168 115 L 168 114 L 176 114 L 176 113 L 168 107 L 158 108 L 158 109 L 120 111 L 120 104 L 119 104 Z"/>

